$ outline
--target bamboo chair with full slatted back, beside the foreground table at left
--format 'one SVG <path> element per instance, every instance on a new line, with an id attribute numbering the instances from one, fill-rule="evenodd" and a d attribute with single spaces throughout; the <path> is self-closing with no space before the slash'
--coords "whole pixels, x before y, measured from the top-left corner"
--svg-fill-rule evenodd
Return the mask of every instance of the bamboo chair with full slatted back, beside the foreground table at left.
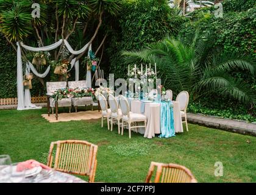
<path id="1" fill-rule="evenodd" d="M 52 152 L 57 145 L 55 157 Z M 48 163 L 54 170 L 76 174 L 79 176 L 89 176 L 88 182 L 94 182 L 97 160 L 98 146 L 80 140 L 64 140 L 51 143 Z"/>

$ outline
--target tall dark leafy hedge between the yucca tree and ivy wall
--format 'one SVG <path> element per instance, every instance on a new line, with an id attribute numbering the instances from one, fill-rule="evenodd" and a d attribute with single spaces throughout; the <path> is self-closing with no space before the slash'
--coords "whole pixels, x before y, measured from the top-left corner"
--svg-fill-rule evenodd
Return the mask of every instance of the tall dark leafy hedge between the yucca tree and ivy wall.
<path id="1" fill-rule="evenodd" d="M 107 49 L 110 73 L 116 78 L 126 78 L 128 66 L 121 57 L 123 49 L 141 49 L 168 34 L 176 34 L 180 23 L 186 20 L 174 15 L 166 1 L 121 1 L 121 8 Z"/>

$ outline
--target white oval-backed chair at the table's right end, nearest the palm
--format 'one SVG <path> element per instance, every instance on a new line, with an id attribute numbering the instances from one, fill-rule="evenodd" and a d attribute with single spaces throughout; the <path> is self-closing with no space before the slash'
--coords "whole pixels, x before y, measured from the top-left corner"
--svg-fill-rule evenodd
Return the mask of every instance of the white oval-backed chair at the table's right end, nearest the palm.
<path id="1" fill-rule="evenodd" d="M 188 132 L 188 122 L 187 122 L 187 107 L 188 107 L 189 95 L 188 91 L 182 91 L 177 95 L 176 102 L 180 102 L 180 113 L 182 117 L 185 118 L 186 129 Z"/>

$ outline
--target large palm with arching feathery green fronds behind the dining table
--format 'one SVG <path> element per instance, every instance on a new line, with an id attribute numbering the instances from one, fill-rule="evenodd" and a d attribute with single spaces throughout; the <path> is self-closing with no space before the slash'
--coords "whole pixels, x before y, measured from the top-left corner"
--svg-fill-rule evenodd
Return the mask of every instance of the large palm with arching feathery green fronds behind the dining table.
<path id="1" fill-rule="evenodd" d="M 141 51 L 124 51 L 127 63 L 157 63 L 158 77 L 165 87 L 174 93 L 186 90 L 194 99 L 205 94 L 228 96 L 246 104 L 256 104 L 256 91 L 241 79 L 236 79 L 231 71 L 242 69 L 255 72 L 255 60 L 238 55 L 215 54 L 213 38 L 196 34 L 189 44 L 182 38 L 165 38 Z"/>

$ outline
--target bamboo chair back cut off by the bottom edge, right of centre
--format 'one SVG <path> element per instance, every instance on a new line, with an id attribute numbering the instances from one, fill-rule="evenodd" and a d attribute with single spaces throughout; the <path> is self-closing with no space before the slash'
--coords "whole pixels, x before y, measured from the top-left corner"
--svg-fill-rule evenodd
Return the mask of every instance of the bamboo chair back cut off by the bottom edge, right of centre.
<path id="1" fill-rule="evenodd" d="M 146 183 L 151 183 L 155 166 L 157 167 L 157 172 L 154 183 L 197 183 L 191 171 L 185 166 L 156 163 L 154 161 L 151 162 Z"/>

